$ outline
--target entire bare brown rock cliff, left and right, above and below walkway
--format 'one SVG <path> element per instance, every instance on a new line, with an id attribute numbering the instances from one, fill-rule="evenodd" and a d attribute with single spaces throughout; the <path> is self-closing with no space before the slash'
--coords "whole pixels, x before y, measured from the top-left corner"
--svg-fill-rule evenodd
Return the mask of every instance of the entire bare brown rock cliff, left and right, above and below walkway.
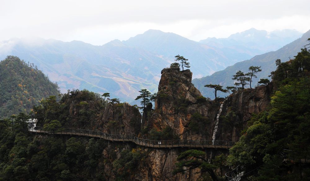
<path id="1" fill-rule="evenodd" d="M 129 104 L 103 104 L 87 91 L 68 95 L 68 98 L 60 103 L 66 111 L 59 117 L 62 117 L 60 120 L 68 120 L 62 122 L 66 127 L 100 130 L 111 134 L 132 134 L 147 138 L 151 135 L 150 130 L 163 131 L 170 126 L 173 134 L 180 139 L 237 141 L 253 114 L 267 108 L 273 88 L 272 84 L 269 84 L 240 90 L 215 102 L 204 98 L 191 80 L 190 70 L 163 69 L 155 108 L 152 109 L 149 104 L 142 117 L 139 110 Z M 85 97 L 93 98 L 84 99 Z M 87 119 L 84 119 L 85 117 Z M 131 170 L 128 180 L 203 179 L 201 173 L 197 174 L 199 169 L 173 175 L 178 155 L 190 148 L 145 148 L 134 143 L 106 142 L 108 146 L 102 152 L 102 164 L 97 169 L 108 173 L 104 177 L 109 180 L 117 179 L 119 170 L 115 168 L 114 161 L 122 157 L 122 151 L 133 150 L 131 152 L 134 154 L 138 149 L 146 154 L 143 159 L 133 159 L 138 163 Z M 227 149 L 197 149 L 204 151 L 205 159 L 211 160 L 211 163 L 216 155 L 228 154 Z"/>

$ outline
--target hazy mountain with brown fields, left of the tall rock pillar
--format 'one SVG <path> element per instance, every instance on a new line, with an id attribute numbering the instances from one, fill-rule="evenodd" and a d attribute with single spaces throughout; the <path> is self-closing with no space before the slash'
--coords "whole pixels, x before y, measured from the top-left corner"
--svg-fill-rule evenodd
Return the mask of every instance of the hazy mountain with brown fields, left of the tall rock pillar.
<path id="1" fill-rule="evenodd" d="M 157 90 L 161 66 L 169 63 L 135 47 L 128 47 L 119 40 L 103 46 L 93 46 L 80 41 L 62 42 L 37 39 L 11 40 L 11 49 L 1 53 L 23 57 L 36 64 L 51 80 L 58 83 L 61 92 L 68 89 L 89 89 L 110 92 L 122 101 L 133 100 L 137 90 L 147 87 Z"/>

